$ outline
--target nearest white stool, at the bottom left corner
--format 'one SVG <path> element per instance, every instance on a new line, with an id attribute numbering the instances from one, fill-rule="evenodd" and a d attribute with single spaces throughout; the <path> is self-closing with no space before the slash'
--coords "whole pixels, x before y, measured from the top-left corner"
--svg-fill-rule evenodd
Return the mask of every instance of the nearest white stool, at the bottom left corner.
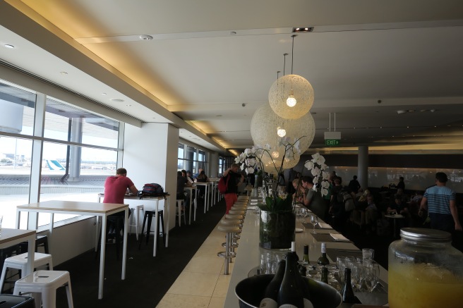
<path id="1" fill-rule="evenodd" d="M 73 308 L 71 278 L 68 271 L 35 271 L 16 281 L 13 295 L 35 293 L 35 307 L 56 308 L 56 289 L 65 286 L 68 307 Z"/>

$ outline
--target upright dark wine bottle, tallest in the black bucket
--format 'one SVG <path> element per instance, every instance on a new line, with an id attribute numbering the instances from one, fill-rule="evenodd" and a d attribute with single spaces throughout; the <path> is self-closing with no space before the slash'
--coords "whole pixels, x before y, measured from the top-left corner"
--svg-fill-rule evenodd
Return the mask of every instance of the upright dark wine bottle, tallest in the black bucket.
<path id="1" fill-rule="evenodd" d="M 297 271 L 296 254 L 292 252 L 286 254 L 286 268 L 278 292 L 278 307 L 303 307 L 302 278 Z"/>

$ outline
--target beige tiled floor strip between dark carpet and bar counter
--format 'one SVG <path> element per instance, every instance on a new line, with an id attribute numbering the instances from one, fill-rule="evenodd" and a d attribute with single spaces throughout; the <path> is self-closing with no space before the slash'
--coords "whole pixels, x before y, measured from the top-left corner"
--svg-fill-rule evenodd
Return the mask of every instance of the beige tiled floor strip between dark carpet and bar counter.
<path id="1" fill-rule="evenodd" d="M 157 307 L 224 307 L 230 275 L 223 274 L 224 259 L 217 257 L 217 252 L 223 251 L 224 241 L 224 233 L 214 228 Z M 229 266 L 230 273 L 233 266 L 234 263 Z"/>

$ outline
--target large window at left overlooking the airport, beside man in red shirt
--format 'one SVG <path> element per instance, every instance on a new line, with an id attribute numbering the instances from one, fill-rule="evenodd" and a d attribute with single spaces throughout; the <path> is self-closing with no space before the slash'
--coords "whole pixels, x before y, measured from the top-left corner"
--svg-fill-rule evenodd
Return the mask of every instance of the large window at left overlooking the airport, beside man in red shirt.
<path id="1" fill-rule="evenodd" d="M 118 121 L 1 81 L 0 108 L 0 214 L 5 228 L 15 227 L 16 205 L 97 200 L 104 180 L 116 170 Z M 43 123 L 43 134 L 34 132 L 40 128 L 36 123 Z M 39 226 L 49 223 L 49 217 L 40 214 Z M 55 215 L 54 221 L 71 217 Z M 21 214 L 21 228 L 27 227 L 26 218 Z"/>

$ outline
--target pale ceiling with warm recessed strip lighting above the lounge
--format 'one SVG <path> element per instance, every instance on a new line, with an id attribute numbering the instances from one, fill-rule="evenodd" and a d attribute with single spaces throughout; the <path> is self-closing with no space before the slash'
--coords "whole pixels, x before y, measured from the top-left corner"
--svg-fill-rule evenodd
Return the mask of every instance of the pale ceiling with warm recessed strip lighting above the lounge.
<path id="1" fill-rule="evenodd" d="M 4 63 L 222 154 L 291 70 L 315 92 L 309 152 L 328 130 L 330 152 L 463 149 L 463 1 L 5 0 L 0 25 Z"/>

